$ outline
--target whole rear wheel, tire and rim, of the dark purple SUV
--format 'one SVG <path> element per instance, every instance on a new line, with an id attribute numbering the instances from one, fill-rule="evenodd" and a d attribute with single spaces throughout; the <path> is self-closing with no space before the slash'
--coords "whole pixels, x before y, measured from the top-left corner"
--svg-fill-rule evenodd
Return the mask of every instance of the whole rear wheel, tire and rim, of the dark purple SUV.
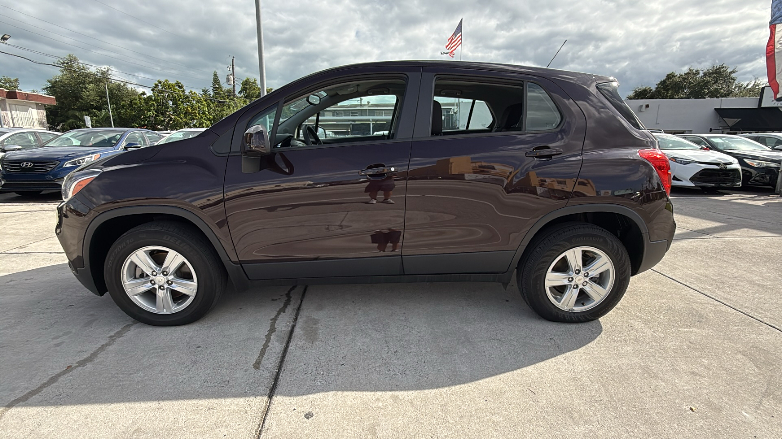
<path id="1" fill-rule="evenodd" d="M 588 322 L 611 311 L 630 284 L 630 258 L 601 227 L 566 223 L 530 243 L 519 262 L 518 287 L 543 319 Z"/>

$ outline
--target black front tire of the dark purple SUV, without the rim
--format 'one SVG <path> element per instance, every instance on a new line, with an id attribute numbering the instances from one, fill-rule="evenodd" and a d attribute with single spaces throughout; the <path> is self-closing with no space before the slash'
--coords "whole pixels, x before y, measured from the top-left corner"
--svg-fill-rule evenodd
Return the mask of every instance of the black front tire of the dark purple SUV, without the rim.
<path id="1" fill-rule="evenodd" d="M 180 253 L 197 273 L 195 297 L 185 309 L 172 314 L 150 312 L 125 293 L 122 266 L 133 252 L 147 246 L 164 246 Z M 120 309 L 139 322 L 160 327 L 186 325 L 205 316 L 217 305 L 227 284 L 224 267 L 212 244 L 192 227 L 169 221 L 145 223 L 120 236 L 106 256 L 104 276 L 109 294 Z"/>

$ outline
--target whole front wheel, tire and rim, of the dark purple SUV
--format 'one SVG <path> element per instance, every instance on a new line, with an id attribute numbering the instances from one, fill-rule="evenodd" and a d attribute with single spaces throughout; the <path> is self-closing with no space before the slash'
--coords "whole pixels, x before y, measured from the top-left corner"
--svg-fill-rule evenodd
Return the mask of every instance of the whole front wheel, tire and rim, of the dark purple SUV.
<path id="1" fill-rule="evenodd" d="M 217 304 L 226 284 L 211 244 L 170 222 L 145 223 L 117 239 L 104 276 L 120 309 L 155 326 L 195 322 Z"/>

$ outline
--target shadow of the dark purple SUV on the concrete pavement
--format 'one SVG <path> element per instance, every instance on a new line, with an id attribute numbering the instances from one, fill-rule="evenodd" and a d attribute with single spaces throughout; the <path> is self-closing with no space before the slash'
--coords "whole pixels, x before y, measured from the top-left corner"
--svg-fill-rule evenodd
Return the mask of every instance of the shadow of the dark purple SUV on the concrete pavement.
<path id="1" fill-rule="evenodd" d="M 265 397 L 283 352 L 277 394 L 448 387 L 572 352 L 602 332 L 597 321 L 540 319 L 499 284 L 267 287 L 228 294 L 184 327 L 136 323 L 65 265 L 2 276 L 0 291 L 0 411 Z"/>

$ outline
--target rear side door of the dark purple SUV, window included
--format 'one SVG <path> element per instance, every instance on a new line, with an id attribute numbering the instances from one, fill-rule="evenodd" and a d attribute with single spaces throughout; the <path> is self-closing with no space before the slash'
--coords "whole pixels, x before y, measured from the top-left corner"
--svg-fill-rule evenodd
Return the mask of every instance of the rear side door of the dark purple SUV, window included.
<path id="1" fill-rule="evenodd" d="M 541 77 L 424 70 L 407 173 L 405 274 L 501 273 L 577 182 L 583 113 Z M 594 195 L 591 193 L 590 195 Z"/>

